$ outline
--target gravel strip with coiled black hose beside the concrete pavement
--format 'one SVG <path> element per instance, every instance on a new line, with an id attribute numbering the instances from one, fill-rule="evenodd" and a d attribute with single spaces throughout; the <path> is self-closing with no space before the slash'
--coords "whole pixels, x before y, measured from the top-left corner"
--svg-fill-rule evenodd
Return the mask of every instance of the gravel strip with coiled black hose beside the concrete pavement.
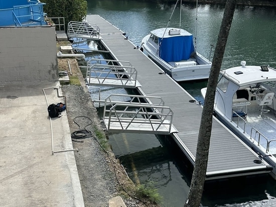
<path id="1" fill-rule="evenodd" d="M 101 127 L 89 93 L 82 86 L 63 85 L 62 91 L 66 96 L 67 116 L 71 133 L 79 130 L 78 125 L 84 129 L 90 123 L 89 119 L 92 120 L 92 124 L 86 127 L 87 130 L 93 132 L 94 125 Z M 78 139 L 77 141 L 73 141 L 73 147 L 79 150 L 75 152 L 75 159 L 84 204 L 93 207 L 108 206 L 109 199 L 117 195 L 118 188 L 113 169 L 109 164 L 110 160 L 107 160 L 106 153 L 101 150 L 94 137 Z"/>

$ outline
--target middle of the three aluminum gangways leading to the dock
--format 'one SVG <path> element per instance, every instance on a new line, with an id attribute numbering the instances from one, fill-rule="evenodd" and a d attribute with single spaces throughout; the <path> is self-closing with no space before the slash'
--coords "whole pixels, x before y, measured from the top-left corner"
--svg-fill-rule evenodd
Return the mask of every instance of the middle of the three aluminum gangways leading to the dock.
<path id="1" fill-rule="evenodd" d="M 124 65 L 124 66 L 122 66 Z M 87 61 L 86 81 L 88 85 L 135 88 L 137 70 L 128 61 L 91 58 Z"/>

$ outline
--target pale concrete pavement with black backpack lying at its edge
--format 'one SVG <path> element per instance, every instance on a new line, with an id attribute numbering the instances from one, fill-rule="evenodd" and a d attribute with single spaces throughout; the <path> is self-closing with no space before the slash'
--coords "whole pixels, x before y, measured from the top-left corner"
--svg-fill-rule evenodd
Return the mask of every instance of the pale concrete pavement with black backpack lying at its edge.
<path id="1" fill-rule="evenodd" d="M 73 149 L 67 115 L 48 117 L 56 85 L 0 87 L 1 206 L 84 206 L 74 152 L 58 152 Z"/>

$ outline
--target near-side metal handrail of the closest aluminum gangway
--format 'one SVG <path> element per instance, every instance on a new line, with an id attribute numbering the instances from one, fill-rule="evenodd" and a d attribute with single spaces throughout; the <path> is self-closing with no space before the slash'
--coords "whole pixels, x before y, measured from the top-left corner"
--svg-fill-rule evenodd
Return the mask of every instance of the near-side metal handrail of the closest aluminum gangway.
<path id="1" fill-rule="evenodd" d="M 128 108 L 133 107 L 137 108 L 137 111 L 125 111 L 125 110 L 116 110 L 116 108 Z M 150 110 L 153 110 L 152 112 Z M 156 109 L 162 109 L 163 113 L 159 113 Z M 147 110 L 149 109 L 149 110 Z M 168 112 L 164 112 L 167 110 Z M 121 130 L 127 130 L 131 124 L 150 124 L 152 131 L 156 132 L 160 129 L 161 126 L 168 125 L 168 131 L 171 131 L 172 127 L 172 120 L 173 120 L 173 111 L 170 107 L 164 106 L 150 106 L 145 104 L 137 104 L 137 103 L 127 103 L 127 104 L 115 104 L 110 108 L 110 110 L 106 110 L 105 113 L 109 113 L 108 116 L 108 125 L 107 129 L 110 130 L 111 121 L 114 123 L 119 123 Z M 132 117 L 122 117 L 120 114 L 123 115 L 132 115 Z M 144 118 L 138 118 L 139 116 Z M 105 114 L 104 114 L 105 117 Z M 156 117 L 157 119 L 151 119 L 152 117 Z M 168 117 L 170 119 L 168 119 Z M 167 121 L 167 122 L 165 122 Z M 127 123 L 126 127 L 124 127 L 123 123 Z M 155 126 L 154 126 L 155 125 Z"/>

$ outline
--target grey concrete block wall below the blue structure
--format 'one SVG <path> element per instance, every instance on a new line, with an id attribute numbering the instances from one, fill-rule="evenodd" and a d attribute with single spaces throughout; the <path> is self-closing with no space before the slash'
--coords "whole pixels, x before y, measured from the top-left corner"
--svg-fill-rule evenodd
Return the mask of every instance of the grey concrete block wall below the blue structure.
<path id="1" fill-rule="evenodd" d="M 0 85 L 58 81 L 55 27 L 4 27 L 0 34 Z"/>

